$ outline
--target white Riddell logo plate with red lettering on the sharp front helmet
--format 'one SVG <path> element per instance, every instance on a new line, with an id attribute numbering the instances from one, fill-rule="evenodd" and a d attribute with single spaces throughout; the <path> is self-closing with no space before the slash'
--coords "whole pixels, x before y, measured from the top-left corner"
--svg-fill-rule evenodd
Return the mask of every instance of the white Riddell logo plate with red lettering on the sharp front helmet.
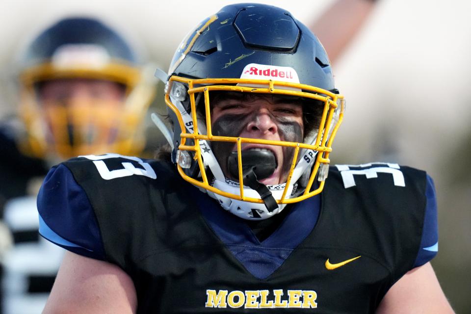
<path id="1" fill-rule="evenodd" d="M 257 63 L 247 64 L 240 78 L 272 79 L 275 81 L 299 83 L 298 74 L 293 68 Z"/>

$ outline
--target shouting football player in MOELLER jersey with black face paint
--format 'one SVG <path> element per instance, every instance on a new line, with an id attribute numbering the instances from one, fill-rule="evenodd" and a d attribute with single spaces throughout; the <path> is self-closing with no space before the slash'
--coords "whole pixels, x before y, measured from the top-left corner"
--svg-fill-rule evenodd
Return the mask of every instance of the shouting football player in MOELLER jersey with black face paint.
<path id="1" fill-rule="evenodd" d="M 70 252 L 45 313 L 452 313 L 432 180 L 329 168 L 345 101 L 288 11 L 222 8 L 166 82 L 168 159 L 85 155 L 46 177 L 40 233 Z"/>

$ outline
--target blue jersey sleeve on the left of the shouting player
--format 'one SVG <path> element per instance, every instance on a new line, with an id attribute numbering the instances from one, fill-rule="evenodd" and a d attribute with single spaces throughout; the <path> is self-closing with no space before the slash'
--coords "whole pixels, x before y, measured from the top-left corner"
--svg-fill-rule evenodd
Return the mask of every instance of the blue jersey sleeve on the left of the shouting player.
<path id="1" fill-rule="evenodd" d="M 76 254 L 105 260 L 103 241 L 90 201 L 64 165 L 47 174 L 37 198 L 39 233 Z"/>

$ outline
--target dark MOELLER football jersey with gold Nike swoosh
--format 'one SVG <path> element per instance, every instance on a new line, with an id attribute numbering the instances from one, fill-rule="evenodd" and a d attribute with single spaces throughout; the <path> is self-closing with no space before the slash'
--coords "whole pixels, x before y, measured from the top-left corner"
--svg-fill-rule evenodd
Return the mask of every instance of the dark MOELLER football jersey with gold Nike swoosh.
<path id="1" fill-rule="evenodd" d="M 138 313 L 374 313 L 436 254 L 433 183 L 396 164 L 331 167 L 262 241 L 173 165 L 113 154 L 52 168 L 40 233 L 114 263 Z"/>

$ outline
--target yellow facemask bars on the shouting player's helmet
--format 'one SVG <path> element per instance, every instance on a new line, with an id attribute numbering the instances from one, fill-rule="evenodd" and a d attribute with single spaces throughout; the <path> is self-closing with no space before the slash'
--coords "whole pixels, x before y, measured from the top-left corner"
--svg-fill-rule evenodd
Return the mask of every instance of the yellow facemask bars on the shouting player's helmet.
<path id="1" fill-rule="evenodd" d="M 257 138 L 216 136 L 213 135 L 211 131 L 211 106 L 209 103 L 209 96 L 212 91 L 279 94 L 318 100 L 323 104 L 320 124 L 318 129 L 312 132 L 314 136 L 305 138 L 304 142 L 287 142 Z M 204 95 L 204 117 L 198 117 L 198 110 L 196 108 L 195 101 L 195 95 L 198 93 L 203 93 Z M 182 104 L 182 101 L 186 96 L 189 97 L 190 108 L 185 108 Z M 252 203 L 263 203 L 261 198 L 250 197 L 244 194 L 241 146 L 244 143 L 255 143 L 262 145 L 291 147 L 294 149 L 294 155 L 291 160 L 287 182 L 282 192 L 279 193 L 279 196 L 275 197 L 277 204 L 299 202 L 322 191 L 324 180 L 327 175 L 328 164 L 330 162 L 329 154 L 332 151 L 332 141 L 334 140 L 336 132 L 343 118 L 345 103 L 342 95 L 335 94 L 317 87 L 291 82 L 239 78 L 188 79 L 172 76 L 169 78 L 167 84 L 165 102 L 168 107 L 176 114 L 180 124 L 180 129 L 182 130 L 181 140 L 178 146 L 179 151 L 177 153 L 177 167 L 180 175 L 189 183 L 227 198 Z M 191 142 L 191 145 L 187 144 L 188 140 L 190 140 L 189 142 Z M 238 193 L 231 193 L 221 190 L 213 186 L 208 179 L 208 166 L 212 172 L 212 175 L 216 177 L 217 174 L 214 172 L 218 171 L 215 170 L 215 167 L 212 166 L 214 162 L 209 160 L 211 157 L 208 153 L 208 146 L 210 148 L 211 143 L 218 141 L 232 142 L 237 147 L 239 183 Z M 198 169 L 200 173 L 199 177 L 190 177 L 184 171 L 184 169 L 187 168 L 191 163 L 191 158 L 196 160 L 198 163 Z M 308 161 L 307 159 L 313 160 Z M 304 192 L 301 193 L 301 195 L 290 197 L 290 187 L 292 188 L 290 183 L 291 181 L 293 181 L 293 183 L 297 181 L 301 175 L 297 173 L 300 169 L 296 169 L 300 163 L 305 163 L 304 166 L 309 165 L 309 169 L 307 169 L 307 171 L 310 171 L 309 180 Z M 319 184 L 313 190 L 311 190 L 316 176 Z"/>

